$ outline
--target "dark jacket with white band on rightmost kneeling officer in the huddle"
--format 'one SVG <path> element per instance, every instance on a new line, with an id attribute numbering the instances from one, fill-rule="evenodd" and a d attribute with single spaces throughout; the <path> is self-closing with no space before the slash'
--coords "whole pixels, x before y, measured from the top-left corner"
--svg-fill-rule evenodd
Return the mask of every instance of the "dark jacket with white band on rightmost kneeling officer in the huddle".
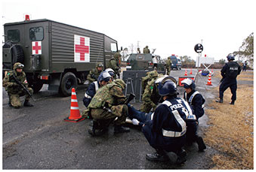
<path id="1" fill-rule="evenodd" d="M 184 99 L 187 101 L 193 108 L 193 112 L 196 115 L 196 119 L 202 117 L 205 113 L 203 109 L 203 104 L 205 103 L 205 98 L 202 95 L 193 89 L 190 93 L 184 92 Z"/>

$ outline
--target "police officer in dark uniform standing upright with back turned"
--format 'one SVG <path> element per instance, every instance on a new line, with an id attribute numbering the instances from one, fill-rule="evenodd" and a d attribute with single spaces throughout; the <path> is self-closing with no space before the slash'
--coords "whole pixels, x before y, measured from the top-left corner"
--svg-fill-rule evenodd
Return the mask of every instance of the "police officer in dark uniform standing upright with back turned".
<path id="1" fill-rule="evenodd" d="M 236 89 L 237 89 L 237 82 L 236 77 L 241 72 L 241 67 L 237 62 L 234 62 L 235 57 L 233 54 L 229 54 L 227 56 L 228 62 L 224 65 L 224 67 L 221 69 L 221 86 L 219 89 L 220 93 L 220 100 L 217 100 L 216 102 L 223 103 L 223 97 L 224 92 L 227 88 L 230 87 L 232 97 L 230 104 L 235 104 L 236 101 Z"/>

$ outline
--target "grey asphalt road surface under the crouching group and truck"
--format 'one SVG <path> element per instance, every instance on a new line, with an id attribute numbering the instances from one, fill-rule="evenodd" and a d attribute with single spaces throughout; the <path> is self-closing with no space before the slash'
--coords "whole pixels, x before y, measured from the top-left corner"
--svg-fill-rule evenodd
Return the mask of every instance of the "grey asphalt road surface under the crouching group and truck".
<path id="1" fill-rule="evenodd" d="M 190 71 L 188 71 L 190 73 Z M 193 70 L 193 75 L 196 69 Z M 190 74 L 189 74 L 190 75 Z M 184 76 L 184 70 L 171 71 L 171 76 Z M 208 77 L 199 77 L 197 89 L 208 100 L 215 98 L 211 90 L 218 80 L 211 77 L 213 86 L 205 86 Z M 183 95 L 184 89 L 178 88 Z M 85 110 L 82 98 L 85 86 L 76 90 L 80 111 Z M 113 134 L 113 126 L 101 137 L 88 134 L 90 120 L 65 122 L 69 116 L 70 97 L 57 92 L 40 91 L 32 101 L 35 107 L 8 107 L 3 89 L 3 169 L 209 169 L 214 149 L 198 152 L 196 143 L 186 146 L 187 162 L 174 165 L 147 161 L 145 155 L 154 149 L 137 126 L 129 133 Z M 23 98 L 22 98 L 23 100 Z M 134 104 L 140 107 L 140 104 Z M 199 134 L 207 128 L 207 115 L 200 119 Z M 207 144 L 207 143 L 206 143 Z"/>

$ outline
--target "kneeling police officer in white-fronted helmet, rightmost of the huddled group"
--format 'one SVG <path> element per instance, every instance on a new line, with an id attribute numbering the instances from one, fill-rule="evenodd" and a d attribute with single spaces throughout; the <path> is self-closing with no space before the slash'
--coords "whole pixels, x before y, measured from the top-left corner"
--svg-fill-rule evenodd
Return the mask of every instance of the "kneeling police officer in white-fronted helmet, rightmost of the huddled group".
<path id="1" fill-rule="evenodd" d="M 194 141 L 198 144 L 199 151 L 202 152 L 206 149 L 205 143 L 202 137 L 196 134 L 198 119 L 204 115 L 205 110 L 203 109 L 205 99 L 202 95 L 196 91 L 196 84 L 190 78 L 182 80 L 181 83 L 184 85 L 184 99 L 187 101 L 193 109 L 193 115 L 189 116 L 186 120 L 187 133 L 186 142 L 188 145 L 192 145 Z"/>

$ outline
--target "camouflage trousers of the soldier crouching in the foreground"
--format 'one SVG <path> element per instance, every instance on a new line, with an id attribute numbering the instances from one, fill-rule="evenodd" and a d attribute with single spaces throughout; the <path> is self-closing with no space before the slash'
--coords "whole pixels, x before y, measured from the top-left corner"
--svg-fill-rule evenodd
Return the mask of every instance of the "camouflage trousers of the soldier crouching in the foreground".
<path id="1" fill-rule="evenodd" d="M 111 110 L 111 112 L 109 112 Z M 125 123 L 125 119 L 128 114 L 128 107 L 125 104 L 120 104 L 113 106 L 110 110 L 103 110 L 102 108 L 91 109 L 91 117 L 100 121 L 106 120 L 109 122 L 109 119 L 115 120 L 115 125 L 122 125 Z M 112 121 L 113 121 L 112 120 Z"/>

